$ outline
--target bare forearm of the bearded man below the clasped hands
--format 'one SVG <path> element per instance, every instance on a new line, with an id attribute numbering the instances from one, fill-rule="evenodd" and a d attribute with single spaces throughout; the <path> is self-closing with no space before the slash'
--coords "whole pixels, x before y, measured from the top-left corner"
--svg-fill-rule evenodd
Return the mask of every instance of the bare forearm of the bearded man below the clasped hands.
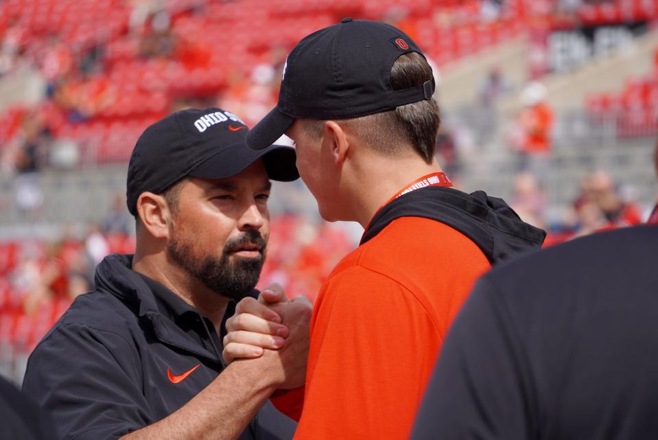
<path id="1" fill-rule="evenodd" d="M 119 440 L 234 440 L 274 389 L 265 362 L 237 360 L 174 413 Z"/>

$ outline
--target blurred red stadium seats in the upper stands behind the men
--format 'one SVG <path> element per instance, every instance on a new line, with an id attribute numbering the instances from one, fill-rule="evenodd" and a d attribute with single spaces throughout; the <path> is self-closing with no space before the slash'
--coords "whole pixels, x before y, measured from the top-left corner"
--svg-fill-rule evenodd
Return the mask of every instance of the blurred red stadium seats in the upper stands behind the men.
<path id="1" fill-rule="evenodd" d="M 143 1 L 148 5 L 148 0 Z M 486 47 L 552 21 L 585 24 L 642 21 L 658 15 L 658 0 L 616 0 L 584 5 L 576 15 L 554 13 L 556 1 L 508 0 L 489 19 L 478 0 L 166 0 L 167 56 L 145 56 L 149 25 L 131 29 L 139 2 L 123 0 L 7 0 L 0 4 L 0 35 L 12 35 L 27 57 L 43 58 L 44 47 L 55 65 L 74 65 L 65 78 L 57 67 L 49 78 L 66 96 L 84 96 L 86 104 L 49 100 L 38 110 L 54 137 L 72 139 L 83 160 L 124 162 L 145 126 L 172 110 L 176 100 L 220 95 L 250 76 L 257 65 L 276 65 L 300 38 L 342 16 L 384 19 L 423 42 L 437 65 L 478 53 Z M 84 74 L 80 60 L 96 49 L 99 69 Z M 277 59 L 273 54 L 281 51 Z M 58 57 L 58 58 L 57 58 Z M 47 70 L 47 68 L 45 68 Z M 51 69 L 52 70 L 52 69 Z M 62 84 L 62 82 L 64 84 Z M 655 100 L 655 78 L 648 86 L 629 86 L 619 97 Z M 272 97 L 276 97 L 275 87 Z M 653 98 L 652 98 L 653 97 Z M 611 108 L 614 99 L 593 99 L 592 108 Z M 57 102 L 57 104 L 54 104 Z M 646 102 L 646 101 L 644 101 Z M 605 103 L 605 104 L 604 104 Z M 635 108 L 635 107 L 634 107 Z M 25 109 L 0 115 L 0 145 L 19 128 Z M 653 113 L 652 113 L 653 112 Z M 633 114 L 635 115 L 635 113 Z M 655 115 L 655 108 L 642 117 Z M 631 116 L 629 116 L 631 117 Z M 633 116 L 635 117 L 635 116 Z"/>

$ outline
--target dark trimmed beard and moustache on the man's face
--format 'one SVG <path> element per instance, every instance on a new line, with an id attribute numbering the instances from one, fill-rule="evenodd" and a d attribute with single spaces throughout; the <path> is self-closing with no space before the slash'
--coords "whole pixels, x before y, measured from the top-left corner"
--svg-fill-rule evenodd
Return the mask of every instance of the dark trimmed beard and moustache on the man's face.
<path id="1" fill-rule="evenodd" d="M 235 257 L 229 260 L 229 251 L 241 244 L 258 244 L 262 246 L 260 257 Z M 176 240 L 176 235 L 167 244 L 167 251 L 178 266 L 187 270 L 191 275 L 215 293 L 239 301 L 250 292 L 258 282 L 265 261 L 266 242 L 261 233 L 249 229 L 239 237 L 227 240 L 224 244 L 222 257 L 205 257 L 198 259 L 191 252 L 189 243 Z"/>

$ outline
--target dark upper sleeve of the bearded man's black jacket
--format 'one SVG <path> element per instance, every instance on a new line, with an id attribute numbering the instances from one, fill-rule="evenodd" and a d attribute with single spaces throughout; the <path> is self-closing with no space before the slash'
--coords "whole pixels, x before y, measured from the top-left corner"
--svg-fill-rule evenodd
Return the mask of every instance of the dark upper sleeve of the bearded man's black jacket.
<path id="1" fill-rule="evenodd" d="M 50 413 L 62 440 L 118 439 L 149 420 L 137 359 L 119 334 L 63 325 L 30 356 L 23 392 Z"/>

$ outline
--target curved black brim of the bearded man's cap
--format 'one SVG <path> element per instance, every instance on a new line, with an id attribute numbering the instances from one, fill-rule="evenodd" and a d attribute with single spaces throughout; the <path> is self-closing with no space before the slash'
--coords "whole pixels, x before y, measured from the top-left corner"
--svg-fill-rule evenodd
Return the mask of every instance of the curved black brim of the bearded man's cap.
<path id="1" fill-rule="evenodd" d="M 263 150 L 252 150 L 246 143 L 235 143 L 195 167 L 189 176 L 201 178 L 228 178 L 263 158 L 268 176 L 273 181 L 290 182 L 299 178 L 295 165 L 295 149 L 283 145 L 270 145 Z"/>

